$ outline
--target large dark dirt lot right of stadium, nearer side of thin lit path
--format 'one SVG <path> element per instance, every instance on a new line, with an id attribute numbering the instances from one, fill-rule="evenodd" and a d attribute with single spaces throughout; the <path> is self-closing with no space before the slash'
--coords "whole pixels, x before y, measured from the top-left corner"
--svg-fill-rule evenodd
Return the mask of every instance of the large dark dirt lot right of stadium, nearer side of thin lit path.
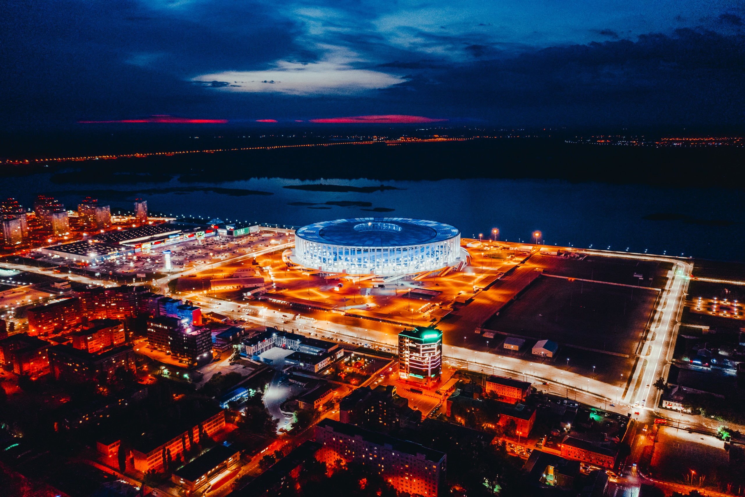
<path id="1" fill-rule="evenodd" d="M 647 288 L 545 276 L 484 328 L 634 355 L 657 294 Z"/>

